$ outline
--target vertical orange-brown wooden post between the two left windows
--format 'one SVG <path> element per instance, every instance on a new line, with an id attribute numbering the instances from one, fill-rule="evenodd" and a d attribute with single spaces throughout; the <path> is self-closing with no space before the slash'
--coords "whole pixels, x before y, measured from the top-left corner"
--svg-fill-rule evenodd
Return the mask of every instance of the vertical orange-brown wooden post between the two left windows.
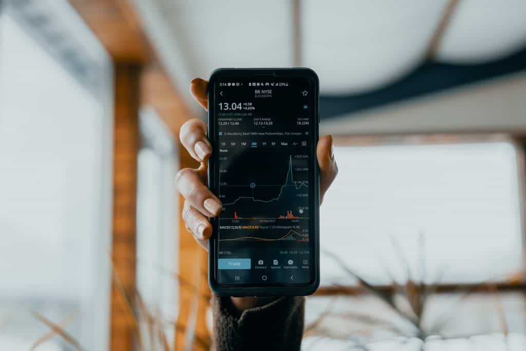
<path id="1" fill-rule="evenodd" d="M 110 349 L 133 350 L 127 301 L 135 294 L 139 74 L 135 64 L 115 65 L 113 248 Z"/>

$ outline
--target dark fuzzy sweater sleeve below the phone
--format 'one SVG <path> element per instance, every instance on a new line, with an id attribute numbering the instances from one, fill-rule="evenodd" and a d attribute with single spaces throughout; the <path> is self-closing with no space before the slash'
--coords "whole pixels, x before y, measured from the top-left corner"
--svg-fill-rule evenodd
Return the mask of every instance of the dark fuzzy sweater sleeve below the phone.
<path id="1" fill-rule="evenodd" d="M 300 350 L 305 298 L 280 297 L 241 314 L 229 297 L 213 296 L 213 345 L 216 351 Z"/>

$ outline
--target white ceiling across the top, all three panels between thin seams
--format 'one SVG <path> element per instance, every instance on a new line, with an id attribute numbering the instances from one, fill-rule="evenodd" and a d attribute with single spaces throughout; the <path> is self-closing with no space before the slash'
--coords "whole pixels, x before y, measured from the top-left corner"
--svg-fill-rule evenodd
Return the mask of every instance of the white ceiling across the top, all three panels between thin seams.
<path id="1" fill-rule="evenodd" d="M 294 65 L 292 1 L 135 2 L 139 12 L 155 13 L 143 20 L 156 46 L 172 48 L 163 61 L 176 81 L 218 67 Z M 319 74 L 322 93 L 381 87 L 421 63 L 448 3 L 304 0 L 301 65 Z M 460 0 L 437 59 L 480 63 L 517 51 L 526 44 L 524 18 L 524 0 Z M 159 28 L 165 36 L 156 35 Z"/>

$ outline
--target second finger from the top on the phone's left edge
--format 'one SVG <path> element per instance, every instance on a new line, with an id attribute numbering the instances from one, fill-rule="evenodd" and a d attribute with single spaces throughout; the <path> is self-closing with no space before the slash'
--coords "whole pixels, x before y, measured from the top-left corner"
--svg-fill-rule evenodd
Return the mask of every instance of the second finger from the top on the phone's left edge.
<path id="1" fill-rule="evenodd" d="M 198 118 L 189 119 L 181 126 L 179 139 L 190 156 L 199 162 L 205 162 L 212 154 L 212 145 L 206 137 L 206 123 Z"/>

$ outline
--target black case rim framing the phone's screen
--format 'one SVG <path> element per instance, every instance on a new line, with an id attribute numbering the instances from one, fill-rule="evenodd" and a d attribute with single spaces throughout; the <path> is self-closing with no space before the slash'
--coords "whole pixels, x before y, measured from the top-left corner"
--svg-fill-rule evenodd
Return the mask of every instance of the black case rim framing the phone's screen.
<path id="1" fill-rule="evenodd" d="M 318 138 L 319 138 L 319 79 L 318 76 L 312 69 L 310 68 L 218 68 L 212 74 L 209 78 L 208 87 L 211 87 L 214 85 L 215 81 L 218 77 L 228 77 L 228 76 L 279 76 L 279 75 L 287 75 L 287 76 L 306 76 L 313 78 L 313 81 L 315 82 L 314 90 L 315 90 L 315 99 L 314 103 L 315 106 L 312 109 L 316 113 L 315 118 L 313 118 L 316 121 L 316 117 L 318 119 L 318 123 L 315 124 L 314 129 L 314 135 L 313 135 L 313 143 L 312 147 L 314 148 L 314 154 L 316 154 L 316 145 L 318 144 Z M 210 142 L 215 145 L 216 143 L 216 135 L 215 133 L 215 121 L 211 121 L 211 118 L 214 116 L 214 109 L 215 109 L 215 101 L 214 101 L 214 94 L 211 93 L 210 88 L 208 89 L 208 114 L 207 114 L 207 125 L 208 125 L 208 138 Z M 217 194 L 216 186 L 215 186 L 215 158 L 217 157 L 217 154 L 215 153 L 215 150 L 213 151 L 212 155 L 208 159 L 208 187 Z M 219 296 L 284 296 L 284 295 L 292 295 L 292 296 L 302 296 L 302 295 L 310 295 L 314 293 L 320 284 L 320 242 L 319 242 L 319 232 L 320 232 L 320 226 L 319 226 L 319 203 L 320 203 L 320 187 L 319 187 L 319 167 L 318 167 L 318 159 L 317 157 L 313 157 L 313 167 L 312 169 L 315 169 L 314 174 L 314 204 L 315 204 L 315 210 L 312 211 L 312 220 L 313 220 L 313 227 L 315 228 L 314 235 L 310 235 L 310 240 L 312 241 L 312 250 L 313 250 L 313 259 L 315 263 L 315 267 L 313 270 L 313 280 L 310 284 L 306 285 L 295 285 L 295 286 L 239 286 L 239 287 L 232 287 L 232 286 L 223 286 L 217 283 L 216 280 L 216 271 L 217 271 L 217 226 L 218 221 L 215 218 L 210 218 L 210 223 L 213 227 L 213 233 L 210 237 L 210 240 L 208 240 L 208 284 L 210 285 L 210 289 Z"/>

